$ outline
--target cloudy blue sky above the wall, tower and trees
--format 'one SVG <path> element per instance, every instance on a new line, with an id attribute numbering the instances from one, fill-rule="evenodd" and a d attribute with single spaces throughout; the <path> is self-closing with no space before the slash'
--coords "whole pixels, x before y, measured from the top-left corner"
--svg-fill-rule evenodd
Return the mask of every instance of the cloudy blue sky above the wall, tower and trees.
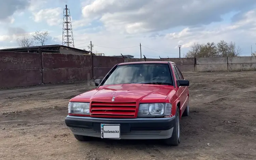
<path id="1" fill-rule="evenodd" d="M 179 57 L 194 42 L 236 42 L 256 50 L 256 0 L 0 0 L 0 48 L 37 30 L 62 44 L 63 9 L 70 9 L 75 48 L 105 55 Z"/>

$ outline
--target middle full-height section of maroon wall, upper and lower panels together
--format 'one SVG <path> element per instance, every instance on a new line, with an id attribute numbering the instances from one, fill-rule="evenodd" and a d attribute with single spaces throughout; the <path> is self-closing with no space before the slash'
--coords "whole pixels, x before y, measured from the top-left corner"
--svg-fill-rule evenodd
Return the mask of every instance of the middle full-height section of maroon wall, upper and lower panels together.
<path id="1" fill-rule="evenodd" d="M 87 80 L 91 75 L 91 56 L 43 53 L 43 83 Z"/>

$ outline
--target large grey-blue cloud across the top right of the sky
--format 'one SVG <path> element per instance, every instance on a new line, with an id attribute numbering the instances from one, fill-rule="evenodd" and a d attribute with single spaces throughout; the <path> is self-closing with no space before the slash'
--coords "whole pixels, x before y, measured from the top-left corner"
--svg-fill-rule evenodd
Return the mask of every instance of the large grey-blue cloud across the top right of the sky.
<path id="1" fill-rule="evenodd" d="M 255 0 L 95 0 L 86 4 L 82 14 L 100 19 L 111 30 L 127 33 L 161 31 L 178 26 L 191 27 L 222 21 L 222 15 L 243 10 Z M 232 5 L 230 5 L 232 4 Z M 201 7 L 203 5 L 203 7 Z M 222 6 L 222 7 L 219 7 Z"/>

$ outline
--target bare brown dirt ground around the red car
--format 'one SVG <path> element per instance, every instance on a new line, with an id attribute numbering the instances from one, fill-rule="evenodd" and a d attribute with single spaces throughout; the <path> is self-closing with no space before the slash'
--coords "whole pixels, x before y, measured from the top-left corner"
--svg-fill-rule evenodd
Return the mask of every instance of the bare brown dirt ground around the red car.
<path id="1" fill-rule="evenodd" d="M 184 73 L 190 116 L 181 144 L 77 141 L 65 125 L 68 101 L 94 84 L 47 84 L 0 90 L 0 159 L 246 160 L 256 159 L 256 71 Z"/>

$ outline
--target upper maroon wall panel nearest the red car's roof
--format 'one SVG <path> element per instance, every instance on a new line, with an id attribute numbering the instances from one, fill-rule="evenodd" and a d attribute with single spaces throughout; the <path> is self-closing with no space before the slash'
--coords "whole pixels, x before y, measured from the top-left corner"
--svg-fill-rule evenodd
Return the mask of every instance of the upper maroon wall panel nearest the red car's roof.
<path id="1" fill-rule="evenodd" d="M 94 55 L 94 67 L 113 67 L 117 63 L 123 63 L 123 58 Z"/>

